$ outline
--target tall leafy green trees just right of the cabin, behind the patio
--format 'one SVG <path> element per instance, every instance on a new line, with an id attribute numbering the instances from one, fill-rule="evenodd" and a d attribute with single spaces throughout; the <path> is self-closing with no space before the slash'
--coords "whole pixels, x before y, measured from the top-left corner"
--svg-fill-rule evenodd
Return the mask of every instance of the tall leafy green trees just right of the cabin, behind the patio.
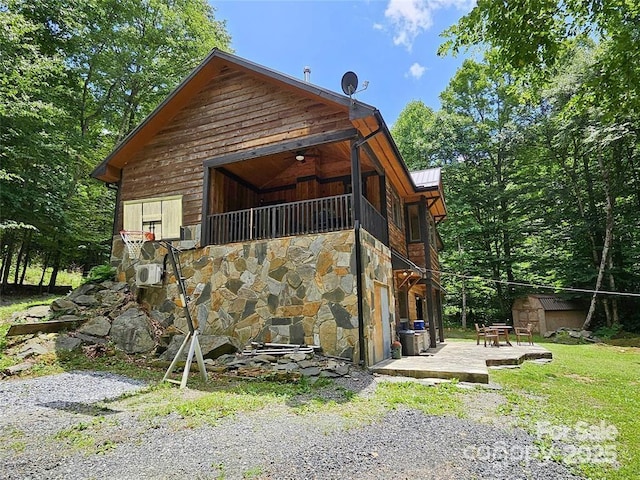
<path id="1" fill-rule="evenodd" d="M 409 104 L 394 138 L 412 168 L 444 167 L 449 217 L 440 231 L 449 248 L 442 256 L 443 270 L 494 280 L 471 282 L 465 288 L 468 303 L 476 320 L 507 318 L 516 291 L 501 282 L 527 276 L 527 218 L 536 211 L 539 196 L 538 167 L 529 161 L 524 133 L 531 109 L 521 105 L 512 78 L 491 54 L 482 63 L 465 61 L 441 100 L 439 112 Z M 445 278 L 449 291 L 461 292 L 465 286 Z M 466 303 L 462 295 L 455 301 Z"/>

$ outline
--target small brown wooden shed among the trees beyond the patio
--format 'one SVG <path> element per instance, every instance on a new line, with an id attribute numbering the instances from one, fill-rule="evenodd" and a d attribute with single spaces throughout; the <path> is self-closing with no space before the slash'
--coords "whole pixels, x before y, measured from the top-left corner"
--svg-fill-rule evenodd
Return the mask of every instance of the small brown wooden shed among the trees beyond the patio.
<path id="1" fill-rule="evenodd" d="M 527 295 L 513 303 L 513 325 L 526 327 L 533 324 L 533 330 L 544 335 L 558 328 L 581 329 L 587 311 L 577 302 L 565 300 L 556 295 Z"/>

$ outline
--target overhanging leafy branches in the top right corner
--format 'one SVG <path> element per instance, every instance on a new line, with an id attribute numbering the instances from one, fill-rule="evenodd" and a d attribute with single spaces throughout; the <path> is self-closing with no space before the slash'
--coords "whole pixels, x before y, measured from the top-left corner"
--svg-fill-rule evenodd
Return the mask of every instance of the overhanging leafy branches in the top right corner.
<path id="1" fill-rule="evenodd" d="M 505 68 L 540 85 L 581 42 L 599 50 L 588 82 L 576 98 L 611 115 L 640 110 L 640 4 L 628 0 L 479 0 L 449 28 L 440 53 L 489 45 Z"/>

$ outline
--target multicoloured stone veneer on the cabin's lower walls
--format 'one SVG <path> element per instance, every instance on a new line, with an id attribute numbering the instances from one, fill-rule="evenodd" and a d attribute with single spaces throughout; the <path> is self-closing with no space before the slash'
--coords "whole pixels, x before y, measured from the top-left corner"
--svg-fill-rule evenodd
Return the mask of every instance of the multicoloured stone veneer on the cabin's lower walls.
<path id="1" fill-rule="evenodd" d="M 365 322 L 371 317 L 373 279 L 391 282 L 387 247 L 363 232 Z M 181 242 L 195 247 L 195 242 Z M 160 287 L 138 288 L 138 301 L 152 317 L 173 316 L 187 329 L 178 288 L 166 249 L 146 243 L 139 261 L 130 261 L 120 237 L 114 237 L 112 265 L 118 278 L 135 287 L 136 263 L 164 263 Z M 211 245 L 180 254 L 191 315 L 203 334 L 228 335 L 250 341 L 306 343 L 329 355 L 359 361 L 358 306 L 353 230 L 271 240 Z M 392 290 L 391 290 L 392 291 Z M 200 292 L 198 294 L 198 292 Z M 390 306 L 390 311 L 395 311 Z"/>

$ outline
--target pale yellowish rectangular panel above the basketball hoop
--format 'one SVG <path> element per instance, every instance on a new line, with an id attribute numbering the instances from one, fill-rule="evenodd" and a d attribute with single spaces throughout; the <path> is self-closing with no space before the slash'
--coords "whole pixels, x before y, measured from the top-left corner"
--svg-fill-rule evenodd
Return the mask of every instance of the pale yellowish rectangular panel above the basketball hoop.
<path id="1" fill-rule="evenodd" d="M 123 230 L 152 232 L 158 240 L 179 239 L 182 196 L 123 202 Z"/>

